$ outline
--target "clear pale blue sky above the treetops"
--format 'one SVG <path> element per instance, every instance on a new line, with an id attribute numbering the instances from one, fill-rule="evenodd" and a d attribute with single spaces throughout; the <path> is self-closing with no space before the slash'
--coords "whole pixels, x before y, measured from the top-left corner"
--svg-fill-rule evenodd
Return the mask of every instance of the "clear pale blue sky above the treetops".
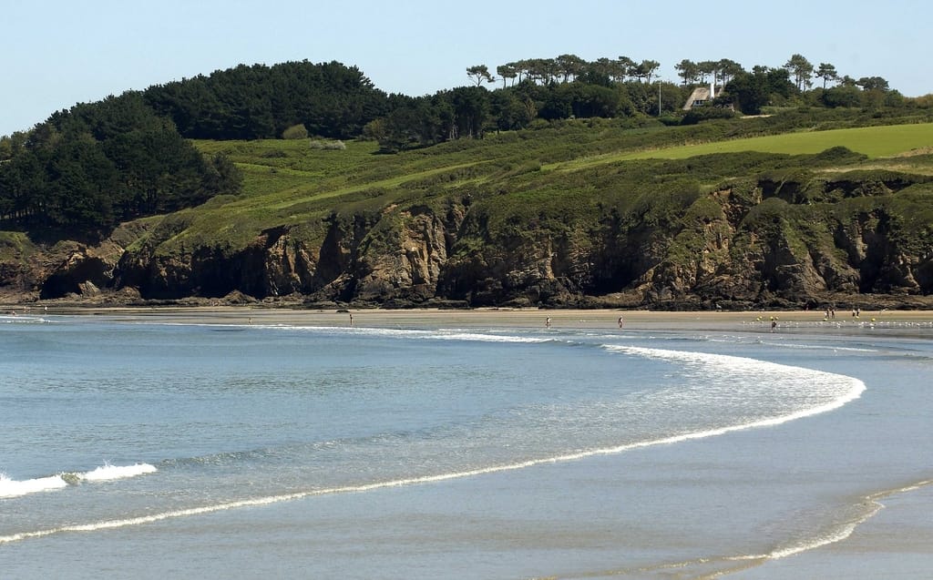
<path id="1" fill-rule="evenodd" d="M 466 67 L 571 53 L 674 65 L 780 67 L 933 92 L 928 0 L 0 0 L 0 135 L 59 109 L 240 63 L 339 61 L 409 95 L 469 84 Z"/>

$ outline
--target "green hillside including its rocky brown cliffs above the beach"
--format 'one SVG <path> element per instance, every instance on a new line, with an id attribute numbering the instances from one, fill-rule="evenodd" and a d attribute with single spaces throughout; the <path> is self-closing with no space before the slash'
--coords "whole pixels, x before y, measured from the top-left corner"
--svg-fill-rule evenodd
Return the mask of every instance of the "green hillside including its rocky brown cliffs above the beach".
<path id="1" fill-rule="evenodd" d="M 94 246 L 2 236 L 0 273 L 27 296 L 121 303 L 926 306 L 931 144 L 917 111 L 797 109 L 553 121 L 391 155 L 196 141 L 232 163 L 237 192 Z"/>

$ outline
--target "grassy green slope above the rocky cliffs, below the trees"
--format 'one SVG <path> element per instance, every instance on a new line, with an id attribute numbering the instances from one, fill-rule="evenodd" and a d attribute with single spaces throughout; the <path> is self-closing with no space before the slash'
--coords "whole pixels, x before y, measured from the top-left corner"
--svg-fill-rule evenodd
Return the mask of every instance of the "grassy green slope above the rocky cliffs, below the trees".
<path id="1" fill-rule="evenodd" d="M 733 156 L 728 162 L 720 156 L 715 158 L 717 169 L 705 173 L 702 163 L 678 165 L 668 160 L 722 152 L 801 154 L 842 145 L 872 158 L 860 164 L 863 168 L 888 165 L 933 174 L 928 156 L 898 157 L 933 144 L 931 123 L 741 138 L 764 132 L 763 123 L 738 119 L 704 124 L 707 127 L 665 128 L 648 121 L 634 126 L 578 121 L 392 156 L 379 155 L 377 146 L 366 142 L 348 143 L 344 150 L 316 150 L 304 140 L 200 142 L 205 153 L 222 151 L 238 164 L 244 172 L 244 193 L 175 214 L 174 236 L 163 245 L 169 246 L 166 251 L 179 244 L 238 248 L 265 228 L 313 230 L 335 211 L 380 212 L 397 203 L 431 203 L 453 192 L 494 198 L 497 206 L 520 215 L 530 214 L 538 203 L 550 205 L 552 212 L 578 211 L 581 204 L 593 202 L 594 194 L 616 201 L 627 197 L 624 203 L 631 205 L 660 184 L 689 181 L 713 187 L 730 176 L 770 168 L 771 161 L 744 164 L 742 158 L 748 156 Z M 718 140 L 703 142 L 712 139 Z M 843 164 L 838 169 L 850 167 L 856 166 Z M 315 237 L 313 231 L 308 235 Z"/>

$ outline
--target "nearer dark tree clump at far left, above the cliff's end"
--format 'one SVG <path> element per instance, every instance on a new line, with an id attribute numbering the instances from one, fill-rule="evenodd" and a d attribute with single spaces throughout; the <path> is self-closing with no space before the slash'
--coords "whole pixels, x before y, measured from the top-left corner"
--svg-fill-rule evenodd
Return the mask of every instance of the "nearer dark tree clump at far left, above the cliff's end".
<path id="1" fill-rule="evenodd" d="M 204 159 L 138 92 L 77 104 L 3 144 L 0 218 L 29 228 L 100 232 L 242 182 L 229 159 Z"/>

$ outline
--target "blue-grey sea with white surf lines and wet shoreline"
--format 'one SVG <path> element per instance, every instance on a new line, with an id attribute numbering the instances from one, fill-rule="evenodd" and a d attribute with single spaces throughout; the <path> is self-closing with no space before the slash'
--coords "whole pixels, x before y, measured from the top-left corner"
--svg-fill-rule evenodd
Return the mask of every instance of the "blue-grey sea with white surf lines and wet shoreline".
<path id="1" fill-rule="evenodd" d="M 790 578 L 905 552 L 933 520 L 933 330 L 761 330 L 0 317 L 0 575 Z M 912 553 L 839 577 L 923 577 Z"/>

